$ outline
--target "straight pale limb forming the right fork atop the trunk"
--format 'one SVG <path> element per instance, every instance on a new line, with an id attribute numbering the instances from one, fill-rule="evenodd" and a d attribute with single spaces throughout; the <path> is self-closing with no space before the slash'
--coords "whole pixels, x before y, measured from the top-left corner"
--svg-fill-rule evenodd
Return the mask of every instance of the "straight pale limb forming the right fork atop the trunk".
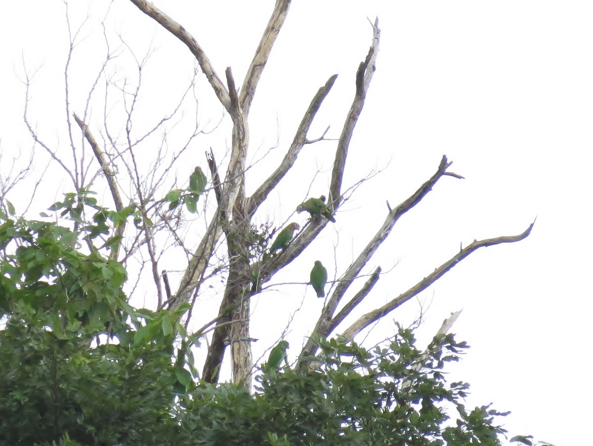
<path id="1" fill-rule="evenodd" d="M 241 110 L 243 110 L 245 116 L 248 116 L 249 114 L 251 101 L 253 101 L 257 83 L 262 76 L 263 69 L 266 66 L 272 47 L 276 42 L 276 37 L 278 37 L 280 28 L 282 28 L 282 25 L 284 24 L 290 5 L 291 0 L 276 0 L 274 11 L 267 23 L 262 40 L 260 40 L 260 44 L 253 56 L 253 60 L 251 60 L 251 65 L 247 69 L 247 75 L 243 81 L 243 87 L 241 87 L 241 95 L 239 97 L 239 106 L 241 107 Z"/>

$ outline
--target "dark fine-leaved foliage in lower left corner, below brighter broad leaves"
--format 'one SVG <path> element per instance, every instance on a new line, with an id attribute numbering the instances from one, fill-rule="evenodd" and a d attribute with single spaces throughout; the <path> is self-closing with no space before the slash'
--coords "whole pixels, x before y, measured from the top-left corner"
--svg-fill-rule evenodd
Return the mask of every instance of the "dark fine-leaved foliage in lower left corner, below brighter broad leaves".
<path id="1" fill-rule="evenodd" d="M 155 345 L 89 348 L 13 314 L 0 342 L 0 443 L 167 444 L 172 368 Z"/>

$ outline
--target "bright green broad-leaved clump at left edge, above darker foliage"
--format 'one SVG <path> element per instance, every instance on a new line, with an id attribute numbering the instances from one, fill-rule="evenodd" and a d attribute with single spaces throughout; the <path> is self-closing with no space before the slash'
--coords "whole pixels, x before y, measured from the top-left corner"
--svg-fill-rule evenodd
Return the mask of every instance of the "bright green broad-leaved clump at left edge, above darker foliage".
<path id="1" fill-rule="evenodd" d="M 76 232 L 42 221 L 0 215 L 0 311 L 34 311 L 58 339 L 79 330 L 126 327 L 126 271 L 96 250 L 76 250 Z"/>

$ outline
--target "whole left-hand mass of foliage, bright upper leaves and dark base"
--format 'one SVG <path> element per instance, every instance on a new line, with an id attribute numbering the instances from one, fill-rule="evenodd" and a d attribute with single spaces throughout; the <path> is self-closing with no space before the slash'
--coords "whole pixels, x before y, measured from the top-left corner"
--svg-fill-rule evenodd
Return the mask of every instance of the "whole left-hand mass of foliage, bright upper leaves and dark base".
<path id="1" fill-rule="evenodd" d="M 122 265 L 81 234 L 0 214 L 0 444 L 166 444 L 191 381 L 178 315 L 129 307 Z"/>

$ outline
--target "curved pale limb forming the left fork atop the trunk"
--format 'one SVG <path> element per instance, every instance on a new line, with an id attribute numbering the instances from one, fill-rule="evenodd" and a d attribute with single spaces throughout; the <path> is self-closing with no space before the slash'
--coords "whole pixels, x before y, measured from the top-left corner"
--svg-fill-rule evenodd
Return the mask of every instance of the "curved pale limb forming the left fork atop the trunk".
<path id="1" fill-rule="evenodd" d="M 145 0 L 130 0 L 130 2 L 136 5 L 136 7 L 144 12 L 144 14 L 148 15 L 148 17 L 151 17 L 157 21 L 157 23 L 165 28 L 165 30 L 169 31 L 171 34 L 177 37 L 177 39 L 186 44 L 186 46 L 197 59 L 197 62 L 200 64 L 200 68 L 202 68 L 202 71 L 206 75 L 210 85 L 212 85 L 216 97 L 218 97 L 218 100 L 221 101 L 222 106 L 224 106 L 225 109 L 227 109 L 227 111 L 230 113 L 231 100 L 229 98 L 228 91 L 221 79 L 216 74 L 216 71 L 214 71 L 212 63 L 206 56 L 206 53 L 196 42 L 196 39 L 194 39 L 192 34 L 187 32 L 183 26 L 174 21 L 171 17 L 155 7 L 153 4 Z"/>

